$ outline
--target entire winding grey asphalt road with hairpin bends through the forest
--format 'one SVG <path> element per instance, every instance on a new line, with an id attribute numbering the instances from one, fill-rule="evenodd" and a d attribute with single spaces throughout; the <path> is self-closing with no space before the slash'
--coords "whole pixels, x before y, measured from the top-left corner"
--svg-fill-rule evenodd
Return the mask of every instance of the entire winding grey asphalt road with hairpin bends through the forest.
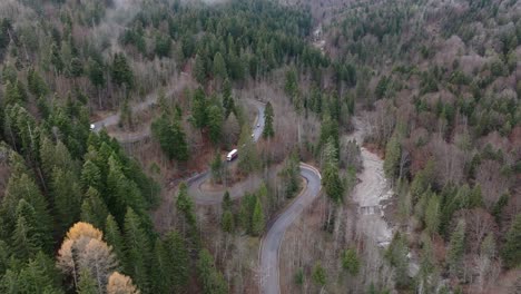
<path id="1" fill-rule="evenodd" d="M 145 110 L 147 107 L 156 104 L 157 96 L 149 96 L 144 102 L 132 107 L 132 111 Z M 264 109 L 263 102 L 250 100 L 257 108 L 257 118 L 253 128 L 253 140 L 257 141 L 264 129 Z M 119 122 L 119 114 L 111 115 L 102 120 L 92 122 L 94 131 L 99 131 L 104 127 L 117 125 Z M 258 127 L 257 127 L 258 126 Z M 141 133 L 130 134 L 127 136 L 117 136 L 121 144 L 135 143 L 149 136 L 150 128 L 147 127 Z M 239 155 L 240 156 L 240 155 Z M 226 163 L 230 164 L 230 163 Z M 260 291 L 265 294 L 278 294 L 279 288 L 279 276 L 278 276 L 278 252 L 281 244 L 284 238 L 286 229 L 293 224 L 293 222 L 302 214 L 305 207 L 311 205 L 313 200 L 318 196 L 321 190 L 321 174 L 320 171 L 307 164 L 301 163 L 301 176 L 306 180 L 306 187 L 301 194 L 293 200 L 293 203 L 284 212 L 282 212 L 264 235 L 260 241 L 259 263 L 263 278 L 260 283 Z M 223 200 L 223 190 L 219 192 L 201 192 L 200 185 L 209 177 L 209 171 L 201 173 L 189 179 L 187 179 L 189 195 L 191 195 L 195 202 L 199 205 L 215 205 Z M 229 188 L 232 198 L 238 198 L 244 195 L 243 183 L 237 184 Z M 258 183 L 259 184 L 259 183 Z M 243 184 L 244 185 L 244 184 Z M 250 184 L 257 186 L 256 183 Z"/>

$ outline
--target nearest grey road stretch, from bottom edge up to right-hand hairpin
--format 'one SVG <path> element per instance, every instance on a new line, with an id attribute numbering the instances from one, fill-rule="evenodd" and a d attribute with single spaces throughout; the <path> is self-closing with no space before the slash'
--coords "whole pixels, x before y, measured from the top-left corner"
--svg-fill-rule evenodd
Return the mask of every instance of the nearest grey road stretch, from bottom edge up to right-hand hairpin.
<path id="1" fill-rule="evenodd" d="M 260 293 L 263 294 L 281 293 L 278 254 L 284 234 L 304 208 L 313 203 L 321 190 L 322 179 L 316 168 L 301 164 L 301 175 L 307 182 L 307 187 L 301 192 L 286 210 L 278 215 L 262 239 L 259 263 Z"/>

